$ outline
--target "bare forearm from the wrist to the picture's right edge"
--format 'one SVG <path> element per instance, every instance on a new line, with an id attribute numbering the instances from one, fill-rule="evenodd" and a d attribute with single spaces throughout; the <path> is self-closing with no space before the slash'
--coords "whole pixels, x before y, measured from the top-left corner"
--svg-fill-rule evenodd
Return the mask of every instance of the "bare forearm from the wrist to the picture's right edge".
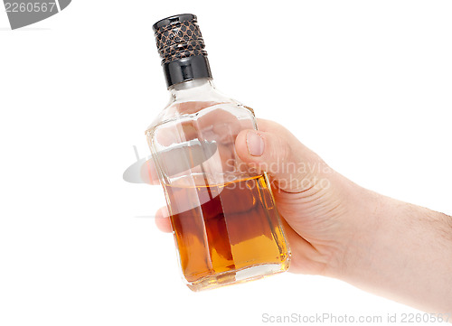
<path id="1" fill-rule="evenodd" d="M 452 218 L 370 191 L 356 196 L 361 228 L 334 277 L 421 310 L 452 313 Z"/>

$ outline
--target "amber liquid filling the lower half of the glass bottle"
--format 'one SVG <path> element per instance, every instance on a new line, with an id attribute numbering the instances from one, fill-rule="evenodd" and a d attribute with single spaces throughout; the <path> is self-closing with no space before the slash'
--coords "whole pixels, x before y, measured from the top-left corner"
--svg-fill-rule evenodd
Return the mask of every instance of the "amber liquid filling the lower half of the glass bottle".
<path id="1" fill-rule="evenodd" d="M 164 188 L 184 277 L 193 291 L 287 269 L 289 250 L 264 175 L 214 185 L 202 176 L 188 178 L 192 184 Z M 259 268 L 240 274 L 251 267 Z"/>

